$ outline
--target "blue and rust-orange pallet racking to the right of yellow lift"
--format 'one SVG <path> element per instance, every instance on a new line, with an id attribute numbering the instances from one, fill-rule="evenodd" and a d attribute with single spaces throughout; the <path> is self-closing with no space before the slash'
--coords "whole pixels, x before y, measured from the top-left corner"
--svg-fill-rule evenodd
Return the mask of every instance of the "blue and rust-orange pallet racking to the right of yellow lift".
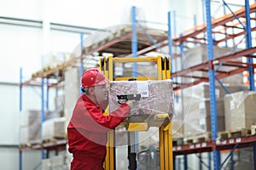
<path id="1" fill-rule="evenodd" d="M 224 1 L 223 1 L 224 2 Z M 224 3 L 225 6 L 228 6 L 227 3 Z M 250 14 L 254 14 L 256 10 L 256 3 L 253 3 L 249 6 L 249 2 L 245 1 L 245 8 L 241 8 L 236 12 L 230 11 L 230 14 L 225 14 L 223 17 L 220 17 L 215 20 L 211 20 L 211 7 L 209 1 L 206 1 L 206 14 L 207 14 L 207 24 L 201 26 L 195 26 L 189 31 L 183 32 L 183 35 L 180 37 L 174 38 L 172 41 L 177 42 L 179 46 L 183 46 L 184 42 L 193 42 L 193 43 L 206 43 L 208 49 L 208 61 L 201 63 L 200 65 L 195 65 L 189 67 L 188 69 L 183 69 L 182 71 L 177 71 L 172 73 L 172 77 L 191 77 L 194 78 L 194 82 L 189 83 L 177 83 L 176 89 L 187 88 L 198 84 L 200 82 L 210 82 L 210 99 L 211 99 L 211 122 L 212 122 L 212 140 L 211 142 L 203 142 L 197 144 L 184 144 L 177 145 L 173 149 L 174 156 L 184 155 L 184 168 L 187 169 L 187 157 L 189 153 L 200 153 L 213 151 L 213 165 L 214 169 L 221 169 L 224 163 L 220 163 L 220 154 L 219 150 L 232 149 L 230 155 L 227 156 L 225 161 L 230 157 L 231 160 L 231 169 L 234 169 L 233 162 L 233 151 L 238 147 L 247 147 L 253 146 L 254 153 L 254 168 L 256 168 L 256 138 L 255 136 L 241 137 L 241 138 L 231 138 L 231 139 L 217 139 L 217 113 L 216 113 L 216 99 L 215 99 L 215 79 L 224 87 L 222 82 L 219 80 L 224 77 L 229 77 L 230 75 L 240 73 L 242 71 L 249 72 L 249 82 L 250 90 L 254 91 L 254 76 L 253 70 L 255 65 L 253 64 L 253 58 L 255 58 L 256 48 L 252 47 L 252 37 L 251 31 L 255 31 L 256 27 L 251 27 L 251 18 Z M 245 20 L 241 20 L 245 19 Z M 231 21 L 236 20 L 235 24 L 231 24 Z M 238 24 L 237 24 L 238 23 Z M 243 24 L 246 23 L 246 26 Z M 233 30 L 230 33 L 229 30 Z M 234 31 L 236 30 L 236 31 Z M 237 31 L 239 30 L 239 31 Z M 227 33 L 229 32 L 229 33 Z M 236 32 L 236 33 L 234 33 Z M 212 39 L 212 34 L 215 34 L 215 37 L 221 37 L 219 39 Z M 205 37 L 207 35 L 207 38 Z M 220 36 L 219 36 L 220 35 Z M 231 52 L 228 55 L 222 56 L 218 59 L 213 59 L 213 44 L 217 45 L 221 42 L 227 42 L 228 40 L 234 40 L 236 37 L 244 36 L 246 38 L 246 48 L 238 51 Z M 235 43 L 233 45 L 236 47 Z M 246 57 L 247 62 L 238 62 L 232 59 L 237 59 L 241 57 Z M 230 71 L 219 71 L 218 67 L 220 66 L 229 66 Z M 217 68 L 214 70 L 214 68 Z M 207 77 L 195 77 L 193 73 L 195 71 L 208 72 Z M 228 92 L 228 91 L 227 91 Z M 210 158 L 209 158 L 210 159 Z M 200 157 L 201 161 L 201 157 Z M 204 163 L 201 161 L 201 163 Z M 211 160 L 209 161 L 209 164 Z M 211 165 L 208 165 L 208 168 L 211 169 Z"/>

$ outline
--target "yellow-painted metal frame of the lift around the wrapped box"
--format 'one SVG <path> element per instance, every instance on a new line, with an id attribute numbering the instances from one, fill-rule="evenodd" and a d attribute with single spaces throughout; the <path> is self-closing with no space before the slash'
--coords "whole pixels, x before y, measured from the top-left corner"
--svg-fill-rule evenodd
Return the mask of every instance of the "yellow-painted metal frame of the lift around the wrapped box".
<path id="1" fill-rule="evenodd" d="M 113 58 L 104 57 L 100 60 L 100 69 L 102 69 L 105 77 L 113 81 L 113 63 L 129 63 L 129 62 L 156 62 L 157 77 L 136 77 L 137 81 L 143 80 L 165 80 L 171 78 L 171 59 L 170 57 L 148 57 L 148 58 Z M 115 81 L 128 80 L 131 77 L 118 77 Z M 172 170 L 172 122 L 168 114 L 156 115 L 156 119 L 164 120 L 159 127 L 160 138 L 160 170 Z M 146 131 L 148 123 L 130 123 L 130 131 Z M 105 160 L 105 169 L 113 170 L 115 164 L 114 156 L 114 133 L 108 133 L 107 156 Z"/>

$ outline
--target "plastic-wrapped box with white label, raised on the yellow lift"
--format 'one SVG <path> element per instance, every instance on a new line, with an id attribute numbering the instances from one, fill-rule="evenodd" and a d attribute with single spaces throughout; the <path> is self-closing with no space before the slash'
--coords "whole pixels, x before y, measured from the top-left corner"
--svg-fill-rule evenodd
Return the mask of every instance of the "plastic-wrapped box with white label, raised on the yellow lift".
<path id="1" fill-rule="evenodd" d="M 140 94 L 131 109 L 135 116 L 173 113 L 172 80 L 110 82 L 109 109 L 119 107 L 118 95 Z"/>

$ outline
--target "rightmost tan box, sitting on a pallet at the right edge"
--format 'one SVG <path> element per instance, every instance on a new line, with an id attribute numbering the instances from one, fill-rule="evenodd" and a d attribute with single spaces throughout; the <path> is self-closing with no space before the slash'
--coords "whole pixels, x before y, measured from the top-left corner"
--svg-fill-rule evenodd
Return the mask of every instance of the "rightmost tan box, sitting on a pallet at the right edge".
<path id="1" fill-rule="evenodd" d="M 256 93 L 241 91 L 224 96 L 226 130 L 251 129 L 256 124 Z"/>

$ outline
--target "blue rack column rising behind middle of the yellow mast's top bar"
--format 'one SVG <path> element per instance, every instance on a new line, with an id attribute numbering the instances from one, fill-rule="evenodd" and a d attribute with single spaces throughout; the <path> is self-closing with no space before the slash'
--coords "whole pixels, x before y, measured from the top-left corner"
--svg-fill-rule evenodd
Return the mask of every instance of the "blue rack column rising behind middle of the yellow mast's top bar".
<path id="1" fill-rule="evenodd" d="M 136 20 L 136 7 L 131 8 L 131 25 L 132 25 L 132 40 L 131 52 L 133 57 L 137 57 L 137 20 Z M 137 77 L 137 63 L 133 64 L 132 76 Z"/>

